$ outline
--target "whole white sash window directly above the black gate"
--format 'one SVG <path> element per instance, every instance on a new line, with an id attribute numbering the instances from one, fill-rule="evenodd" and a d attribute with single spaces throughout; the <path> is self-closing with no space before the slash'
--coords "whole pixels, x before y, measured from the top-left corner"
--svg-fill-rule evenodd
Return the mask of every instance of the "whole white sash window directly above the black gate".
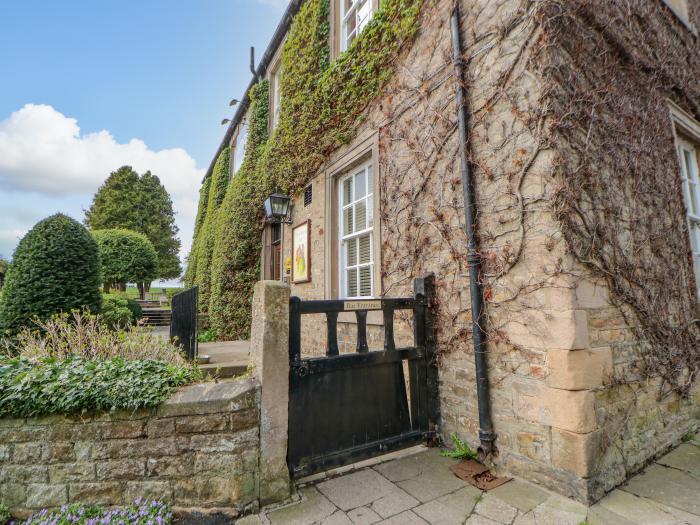
<path id="1" fill-rule="evenodd" d="M 340 290 L 344 299 L 374 296 L 372 165 L 341 178 L 339 190 Z"/>

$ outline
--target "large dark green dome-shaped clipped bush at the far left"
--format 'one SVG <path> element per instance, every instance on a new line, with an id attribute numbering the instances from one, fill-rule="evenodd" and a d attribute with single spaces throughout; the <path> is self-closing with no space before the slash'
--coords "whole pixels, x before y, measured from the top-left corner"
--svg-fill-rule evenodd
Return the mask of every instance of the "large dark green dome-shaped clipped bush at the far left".
<path id="1" fill-rule="evenodd" d="M 63 214 L 37 223 L 17 246 L 0 303 L 0 334 L 16 334 L 33 320 L 59 312 L 99 312 L 102 303 L 97 244 Z"/>

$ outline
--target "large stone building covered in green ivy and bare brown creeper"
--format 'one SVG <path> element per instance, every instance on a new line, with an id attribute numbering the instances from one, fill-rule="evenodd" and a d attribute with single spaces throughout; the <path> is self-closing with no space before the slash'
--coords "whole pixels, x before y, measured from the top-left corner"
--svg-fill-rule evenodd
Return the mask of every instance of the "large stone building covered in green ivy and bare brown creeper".
<path id="1" fill-rule="evenodd" d="M 697 428 L 699 27 L 697 0 L 292 0 L 205 178 L 188 283 L 230 337 L 257 279 L 367 299 L 434 273 L 443 440 L 599 499 Z M 273 192 L 291 224 L 264 222 Z"/>

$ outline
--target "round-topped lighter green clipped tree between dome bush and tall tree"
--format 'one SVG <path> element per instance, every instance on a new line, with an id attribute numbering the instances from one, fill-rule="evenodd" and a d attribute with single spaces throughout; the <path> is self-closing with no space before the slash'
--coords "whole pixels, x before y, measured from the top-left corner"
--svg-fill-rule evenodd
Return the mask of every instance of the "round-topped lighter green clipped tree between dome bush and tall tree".
<path id="1" fill-rule="evenodd" d="M 136 283 L 143 299 L 145 283 L 158 274 L 158 254 L 151 241 L 142 233 L 123 229 L 95 230 L 92 236 L 102 263 L 104 292 L 115 285 L 123 289 L 126 283 Z"/>

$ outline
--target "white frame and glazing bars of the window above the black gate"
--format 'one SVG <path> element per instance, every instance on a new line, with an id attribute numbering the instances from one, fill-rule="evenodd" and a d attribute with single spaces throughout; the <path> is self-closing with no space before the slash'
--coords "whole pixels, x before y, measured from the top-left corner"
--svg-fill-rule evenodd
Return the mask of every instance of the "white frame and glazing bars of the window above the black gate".
<path id="1" fill-rule="evenodd" d="M 355 196 L 355 182 L 354 178 L 356 175 L 363 173 L 365 179 L 365 195 L 356 198 Z M 374 253 L 374 225 L 376 218 L 374 217 L 374 166 L 372 162 L 363 163 L 343 176 L 338 178 L 338 280 L 339 280 L 339 296 L 341 299 L 372 299 L 375 297 L 376 283 L 374 275 L 374 265 L 375 265 L 375 253 Z M 343 186 L 345 181 L 348 179 L 353 179 L 352 183 L 352 195 L 351 202 L 345 204 L 343 202 Z M 370 181 L 371 179 L 371 181 Z M 364 201 L 365 202 L 365 213 L 367 217 L 367 223 L 369 226 L 363 230 L 354 231 L 350 234 L 345 235 L 345 222 L 344 222 L 344 210 L 347 208 L 353 208 L 353 222 L 355 221 L 354 209 L 356 209 L 357 204 Z M 352 266 L 347 265 L 347 244 L 348 241 L 352 239 L 359 239 L 360 237 L 369 236 L 369 262 L 361 263 L 359 257 L 359 242 L 357 243 L 357 260 L 356 264 Z M 370 275 L 370 295 L 349 295 L 347 293 L 347 270 L 354 269 L 357 271 L 357 292 L 360 291 L 360 268 L 369 268 Z"/>

